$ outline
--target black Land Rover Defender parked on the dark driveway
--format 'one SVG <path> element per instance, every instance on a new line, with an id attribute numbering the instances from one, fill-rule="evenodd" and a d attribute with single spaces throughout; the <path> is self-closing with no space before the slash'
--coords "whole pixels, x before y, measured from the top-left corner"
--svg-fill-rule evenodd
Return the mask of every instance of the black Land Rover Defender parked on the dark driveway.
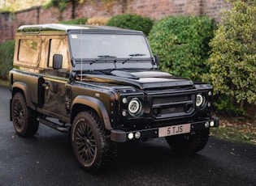
<path id="1" fill-rule="evenodd" d="M 115 159 L 117 142 L 165 137 L 172 150 L 206 146 L 212 87 L 158 70 L 142 32 L 44 24 L 19 27 L 9 73 L 11 120 L 30 137 L 39 122 L 68 133 L 86 171 Z M 57 121 L 56 121 L 57 120 Z"/>

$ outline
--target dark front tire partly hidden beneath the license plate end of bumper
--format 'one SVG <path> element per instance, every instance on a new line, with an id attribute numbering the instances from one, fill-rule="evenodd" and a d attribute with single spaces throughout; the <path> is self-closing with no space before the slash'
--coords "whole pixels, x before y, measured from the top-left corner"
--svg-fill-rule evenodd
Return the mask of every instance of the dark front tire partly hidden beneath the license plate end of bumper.
<path id="1" fill-rule="evenodd" d="M 202 150 L 208 142 L 210 129 L 202 129 L 195 134 L 183 134 L 166 137 L 171 149 L 177 153 L 196 153 Z"/>

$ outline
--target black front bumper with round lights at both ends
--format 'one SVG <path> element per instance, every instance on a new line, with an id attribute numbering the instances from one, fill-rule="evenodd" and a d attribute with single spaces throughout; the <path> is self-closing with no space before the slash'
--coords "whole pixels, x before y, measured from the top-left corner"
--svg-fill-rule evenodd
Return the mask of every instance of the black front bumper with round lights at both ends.
<path id="1" fill-rule="evenodd" d="M 175 125 L 171 125 L 173 127 Z M 190 123 L 190 133 L 194 133 L 197 130 L 207 129 L 210 127 L 218 127 L 219 126 L 219 118 L 211 117 L 208 120 L 200 120 L 197 122 Z M 152 129 L 141 129 L 141 130 L 133 130 L 133 131 L 123 131 L 119 129 L 111 130 L 111 141 L 113 142 L 128 142 L 132 140 L 141 140 L 147 138 L 156 138 L 159 137 L 159 129 L 160 128 L 152 128 Z"/>

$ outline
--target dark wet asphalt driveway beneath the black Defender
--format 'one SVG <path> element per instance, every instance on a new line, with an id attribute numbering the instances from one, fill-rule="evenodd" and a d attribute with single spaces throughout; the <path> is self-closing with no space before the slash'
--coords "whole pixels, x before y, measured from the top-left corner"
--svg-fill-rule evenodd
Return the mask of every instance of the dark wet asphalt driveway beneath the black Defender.
<path id="1" fill-rule="evenodd" d="M 256 185 L 256 146 L 210 137 L 197 154 L 172 152 L 164 138 L 119 146 L 108 170 L 81 170 L 67 135 L 40 125 L 32 138 L 15 134 L 10 91 L 0 87 L 0 185 Z"/>

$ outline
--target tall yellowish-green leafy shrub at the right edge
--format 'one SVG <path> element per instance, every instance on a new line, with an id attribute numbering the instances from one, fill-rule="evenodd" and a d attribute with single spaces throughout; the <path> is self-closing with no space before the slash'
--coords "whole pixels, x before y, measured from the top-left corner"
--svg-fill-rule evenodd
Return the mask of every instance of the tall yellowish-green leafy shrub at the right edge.
<path id="1" fill-rule="evenodd" d="M 256 104 L 256 2 L 232 3 L 231 10 L 223 10 L 210 42 L 210 73 L 204 79 L 215 87 L 215 93 L 236 99 L 242 109 L 246 102 Z"/>

